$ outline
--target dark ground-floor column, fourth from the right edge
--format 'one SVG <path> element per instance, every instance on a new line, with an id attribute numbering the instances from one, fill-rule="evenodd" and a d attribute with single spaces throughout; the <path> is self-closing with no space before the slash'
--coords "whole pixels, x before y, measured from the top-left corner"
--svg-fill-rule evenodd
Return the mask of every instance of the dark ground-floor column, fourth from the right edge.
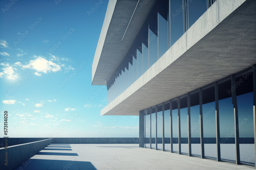
<path id="1" fill-rule="evenodd" d="M 200 142 L 201 142 L 201 158 L 205 158 L 204 148 L 204 130 L 203 130 L 203 94 L 202 88 L 199 88 L 199 112 L 200 112 Z"/>

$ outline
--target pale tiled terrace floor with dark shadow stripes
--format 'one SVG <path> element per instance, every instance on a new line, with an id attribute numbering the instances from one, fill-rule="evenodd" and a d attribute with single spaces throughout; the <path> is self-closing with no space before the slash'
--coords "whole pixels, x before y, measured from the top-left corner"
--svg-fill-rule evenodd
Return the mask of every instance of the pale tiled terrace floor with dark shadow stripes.
<path id="1" fill-rule="evenodd" d="M 138 145 L 133 144 L 70 144 L 65 145 L 65 148 L 60 147 L 64 145 L 51 144 L 50 146 L 45 149 L 51 148 L 51 150 L 41 150 L 20 167 L 24 170 L 253 169 L 176 153 L 139 148 Z M 67 146 L 71 148 L 66 148 Z M 20 167 L 16 169 L 18 170 Z"/>

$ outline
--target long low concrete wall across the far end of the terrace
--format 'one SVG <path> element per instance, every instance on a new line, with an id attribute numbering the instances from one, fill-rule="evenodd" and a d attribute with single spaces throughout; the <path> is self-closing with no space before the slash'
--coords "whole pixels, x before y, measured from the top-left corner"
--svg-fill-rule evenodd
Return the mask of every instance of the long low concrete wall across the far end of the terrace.
<path id="1" fill-rule="evenodd" d="M 52 144 L 138 144 L 139 138 L 53 138 Z"/>

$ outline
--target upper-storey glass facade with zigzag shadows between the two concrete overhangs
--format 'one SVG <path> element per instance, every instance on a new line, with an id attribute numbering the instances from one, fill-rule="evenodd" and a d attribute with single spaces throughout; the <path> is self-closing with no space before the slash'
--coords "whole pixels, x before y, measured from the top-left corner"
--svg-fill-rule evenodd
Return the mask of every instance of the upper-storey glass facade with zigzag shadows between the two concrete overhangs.
<path id="1" fill-rule="evenodd" d="M 107 83 L 108 103 L 141 77 L 215 0 L 157 0 Z"/>

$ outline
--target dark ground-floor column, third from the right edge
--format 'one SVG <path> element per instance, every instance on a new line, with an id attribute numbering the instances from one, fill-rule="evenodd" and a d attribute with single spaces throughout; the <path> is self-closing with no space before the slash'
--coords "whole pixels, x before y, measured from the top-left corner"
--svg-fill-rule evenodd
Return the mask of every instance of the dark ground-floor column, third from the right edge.
<path id="1" fill-rule="evenodd" d="M 219 88 L 218 82 L 215 85 L 215 116 L 216 116 L 216 145 L 217 145 L 217 161 L 220 161 L 220 117 L 219 117 Z"/>

